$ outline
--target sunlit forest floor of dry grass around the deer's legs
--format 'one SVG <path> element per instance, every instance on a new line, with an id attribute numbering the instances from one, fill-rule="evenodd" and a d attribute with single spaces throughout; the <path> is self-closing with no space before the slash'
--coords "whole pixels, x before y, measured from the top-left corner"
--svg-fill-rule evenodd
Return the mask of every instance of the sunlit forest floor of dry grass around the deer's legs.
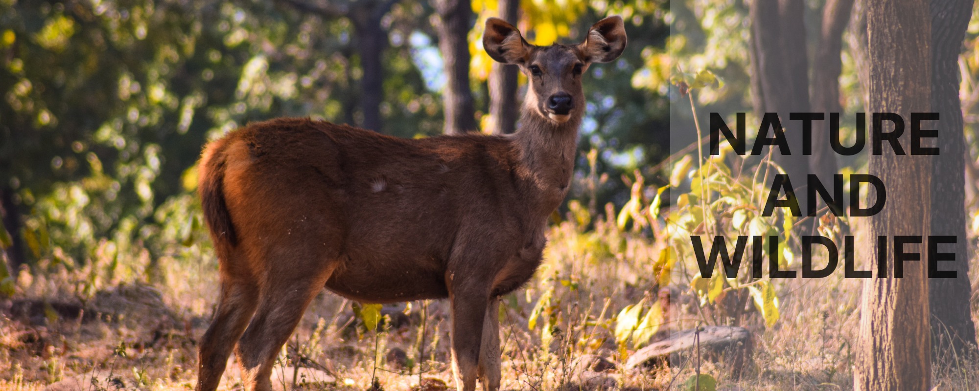
<path id="1" fill-rule="evenodd" d="M 692 388 L 684 382 L 698 371 L 717 378 L 718 390 L 853 388 L 862 282 L 840 273 L 780 284 L 781 315 L 774 326 L 752 314 L 751 304 L 745 307 L 737 326 L 751 331 L 753 349 L 737 377 L 729 362 L 708 355 L 699 365 L 682 360 L 672 367 L 624 369 L 635 349 L 617 346 L 612 319 L 629 304 L 662 293 L 651 291 L 643 277 L 648 254 L 661 245 L 627 236 L 619 249 L 595 255 L 602 252 L 595 239 L 606 237 L 567 223 L 554 227 L 535 280 L 502 298 L 502 390 L 686 390 Z M 216 268 L 206 261 L 181 265 L 166 271 L 165 282 L 106 282 L 84 301 L 65 293 L 84 271 L 45 277 L 23 272 L 18 294 L 0 300 L 0 389 L 40 390 L 57 381 L 62 390 L 193 389 L 197 341 L 216 297 Z M 676 275 L 689 275 L 686 267 L 680 262 Z M 684 279 L 663 291 L 672 294 L 671 304 L 654 340 L 698 324 L 732 322 L 718 321 L 723 313 L 710 306 L 698 310 Z M 537 306 L 540 318 L 529 327 L 537 302 L 548 295 L 549 305 Z M 324 290 L 280 354 L 275 388 L 368 390 L 372 378 L 389 391 L 454 388 L 446 303 L 386 306 L 383 313 L 379 332 L 365 330 L 349 301 Z M 549 333 L 541 330 L 545 323 L 553 325 Z M 581 364 L 596 360 L 600 368 Z M 976 362 L 943 360 L 934 369 L 937 389 L 979 389 Z M 220 389 L 241 388 L 234 368 L 229 366 Z"/>

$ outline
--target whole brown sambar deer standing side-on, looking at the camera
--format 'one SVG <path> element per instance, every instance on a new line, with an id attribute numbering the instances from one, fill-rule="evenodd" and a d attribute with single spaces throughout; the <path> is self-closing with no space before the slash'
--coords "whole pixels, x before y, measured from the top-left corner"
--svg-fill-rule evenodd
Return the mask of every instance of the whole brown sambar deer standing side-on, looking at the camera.
<path id="1" fill-rule="evenodd" d="M 578 45 L 538 47 L 489 19 L 483 45 L 530 87 L 520 129 L 408 140 L 308 118 L 250 124 L 208 145 L 199 191 L 220 299 L 197 390 L 234 350 L 247 390 L 270 390 L 282 345 L 324 286 L 372 303 L 448 297 L 459 391 L 497 390 L 496 298 L 540 264 L 548 216 L 571 182 L 582 73 L 626 46 L 622 18 Z"/>

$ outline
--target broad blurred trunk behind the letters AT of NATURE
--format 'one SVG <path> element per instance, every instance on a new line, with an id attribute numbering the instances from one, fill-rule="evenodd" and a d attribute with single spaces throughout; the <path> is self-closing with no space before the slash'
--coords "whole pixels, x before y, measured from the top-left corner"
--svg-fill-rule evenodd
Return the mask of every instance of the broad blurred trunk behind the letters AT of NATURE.
<path id="1" fill-rule="evenodd" d="M 796 126 L 800 122 L 790 121 L 789 113 L 811 110 L 804 10 L 804 2 L 798 0 L 757 0 L 750 6 L 755 113 L 759 117 L 765 112 L 778 113 L 791 154 L 776 150 L 772 158 L 795 180 L 795 194 L 802 205 L 808 199 L 805 178 L 812 171 L 802 150 L 802 129 Z M 804 228 L 805 235 L 811 227 Z"/>

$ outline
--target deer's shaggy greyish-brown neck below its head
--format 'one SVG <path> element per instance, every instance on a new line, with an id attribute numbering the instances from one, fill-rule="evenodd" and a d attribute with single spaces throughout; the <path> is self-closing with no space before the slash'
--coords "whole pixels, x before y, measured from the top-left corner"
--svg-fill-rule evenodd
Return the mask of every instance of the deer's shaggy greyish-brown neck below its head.
<path id="1" fill-rule="evenodd" d="M 520 129 L 513 135 L 520 165 L 530 179 L 528 186 L 535 209 L 549 215 L 568 194 L 578 152 L 578 128 L 582 114 L 561 124 L 525 108 Z"/>

